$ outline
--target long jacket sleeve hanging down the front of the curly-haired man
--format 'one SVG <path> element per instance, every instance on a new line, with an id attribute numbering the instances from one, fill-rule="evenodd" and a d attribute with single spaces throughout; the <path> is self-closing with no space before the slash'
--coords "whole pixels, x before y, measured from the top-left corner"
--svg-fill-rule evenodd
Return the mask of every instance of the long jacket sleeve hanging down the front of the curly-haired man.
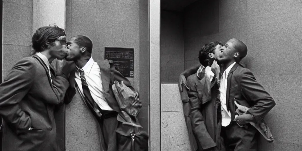
<path id="1" fill-rule="evenodd" d="M 196 76 L 196 75 L 192 75 Z M 201 101 L 198 98 L 197 88 L 194 82 L 194 79 L 191 78 L 192 76 L 188 77 L 188 85 L 191 87 L 191 90 L 188 91 L 188 97 L 190 99 L 191 105 L 191 123 L 192 123 L 192 130 L 194 136 L 198 140 L 198 143 L 202 146 L 203 149 L 209 149 L 211 147 L 216 146 L 214 140 L 210 137 L 210 134 L 207 131 L 207 128 L 204 124 L 203 116 L 201 113 Z M 197 76 L 196 76 L 197 79 Z M 195 80 L 196 81 L 196 80 Z M 200 81 L 198 81 L 200 82 Z M 201 92 L 200 92 L 201 93 Z"/>

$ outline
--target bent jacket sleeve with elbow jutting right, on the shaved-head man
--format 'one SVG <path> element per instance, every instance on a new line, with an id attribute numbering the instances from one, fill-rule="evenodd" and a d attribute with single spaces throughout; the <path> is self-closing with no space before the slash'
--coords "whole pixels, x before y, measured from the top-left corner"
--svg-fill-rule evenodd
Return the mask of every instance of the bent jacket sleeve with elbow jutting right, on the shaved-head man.
<path id="1" fill-rule="evenodd" d="M 261 121 L 266 114 L 276 105 L 271 95 L 260 85 L 249 69 L 244 69 L 240 74 L 241 93 L 254 106 L 248 110 L 257 122 Z"/>

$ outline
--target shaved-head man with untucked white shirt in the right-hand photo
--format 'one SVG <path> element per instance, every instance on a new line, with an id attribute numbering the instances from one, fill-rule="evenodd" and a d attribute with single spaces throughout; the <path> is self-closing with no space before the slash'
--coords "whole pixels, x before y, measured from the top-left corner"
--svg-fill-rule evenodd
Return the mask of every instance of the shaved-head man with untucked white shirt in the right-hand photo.
<path id="1" fill-rule="evenodd" d="M 236 62 L 247 54 L 246 45 L 231 39 L 220 49 L 217 62 L 225 67 L 220 78 L 222 114 L 221 136 L 231 151 L 256 151 L 258 131 L 249 122 L 260 122 L 275 106 L 273 98 L 260 85 L 253 73 Z M 249 110 L 236 115 L 235 101 Z"/>

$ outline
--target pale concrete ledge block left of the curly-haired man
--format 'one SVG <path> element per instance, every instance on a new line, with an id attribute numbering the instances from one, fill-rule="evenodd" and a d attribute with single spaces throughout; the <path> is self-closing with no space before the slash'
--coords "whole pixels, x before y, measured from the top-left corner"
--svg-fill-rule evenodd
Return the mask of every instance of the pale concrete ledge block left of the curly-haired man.
<path id="1" fill-rule="evenodd" d="M 191 151 L 177 83 L 161 83 L 161 150 Z"/>

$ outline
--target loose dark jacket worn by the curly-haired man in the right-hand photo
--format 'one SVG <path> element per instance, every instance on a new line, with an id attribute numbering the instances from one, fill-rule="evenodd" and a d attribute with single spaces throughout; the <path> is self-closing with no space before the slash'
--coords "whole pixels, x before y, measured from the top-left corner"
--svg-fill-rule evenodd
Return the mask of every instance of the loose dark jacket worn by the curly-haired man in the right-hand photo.
<path id="1" fill-rule="evenodd" d="M 214 146 L 220 149 L 221 120 L 217 121 L 217 116 L 221 119 L 221 114 L 217 115 L 220 101 L 216 100 L 218 90 L 216 80 L 211 82 L 206 77 L 200 80 L 195 73 L 188 77 L 187 82 L 190 86 L 188 96 L 191 105 L 192 131 L 198 142 L 198 150 L 203 151 Z"/>

